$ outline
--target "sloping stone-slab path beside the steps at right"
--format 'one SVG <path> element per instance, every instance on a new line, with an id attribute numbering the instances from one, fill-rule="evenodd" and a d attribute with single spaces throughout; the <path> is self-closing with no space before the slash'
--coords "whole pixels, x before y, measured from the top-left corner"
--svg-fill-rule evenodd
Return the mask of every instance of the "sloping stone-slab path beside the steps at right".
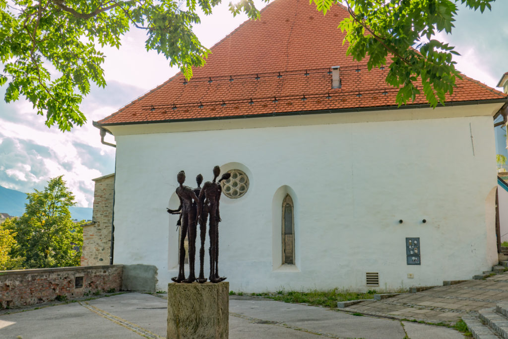
<path id="1" fill-rule="evenodd" d="M 438 323 L 455 322 L 467 314 L 475 315 L 478 310 L 494 307 L 499 301 L 508 301 L 508 272 L 485 280 L 470 280 L 380 301 L 365 301 L 343 310 Z"/>

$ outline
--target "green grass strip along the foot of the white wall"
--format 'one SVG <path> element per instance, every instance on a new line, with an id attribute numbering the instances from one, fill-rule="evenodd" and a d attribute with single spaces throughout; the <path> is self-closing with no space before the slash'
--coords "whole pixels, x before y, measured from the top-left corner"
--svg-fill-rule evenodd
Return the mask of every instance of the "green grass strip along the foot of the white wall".
<path id="1" fill-rule="evenodd" d="M 374 293 L 357 293 L 348 290 L 339 290 L 337 288 L 328 291 L 312 290 L 308 292 L 297 291 L 277 291 L 276 295 L 267 295 L 267 298 L 292 302 L 292 303 L 307 303 L 310 305 L 320 305 L 326 307 L 337 307 L 337 301 L 349 301 L 359 299 L 372 299 Z"/>

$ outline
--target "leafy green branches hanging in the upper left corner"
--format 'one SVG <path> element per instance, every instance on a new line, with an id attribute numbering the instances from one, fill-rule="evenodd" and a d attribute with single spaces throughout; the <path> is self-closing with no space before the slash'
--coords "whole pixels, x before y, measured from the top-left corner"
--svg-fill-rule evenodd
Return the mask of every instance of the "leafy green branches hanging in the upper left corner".
<path id="1" fill-rule="evenodd" d="M 20 96 L 48 127 L 61 131 L 86 121 L 79 109 L 90 81 L 104 87 L 104 54 L 99 46 L 120 46 L 131 27 L 146 31 L 147 50 L 156 50 L 180 66 L 187 78 L 193 66 L 204 65 L 208 49 L 193 33 L 220 0 L 0 0 L 0 86 L 7 83 L 5 101 Z M 253 0 L 231 5 L 236 14 L 257 18 Z M 50 73 L 50 69 L 54 71 Z"/>

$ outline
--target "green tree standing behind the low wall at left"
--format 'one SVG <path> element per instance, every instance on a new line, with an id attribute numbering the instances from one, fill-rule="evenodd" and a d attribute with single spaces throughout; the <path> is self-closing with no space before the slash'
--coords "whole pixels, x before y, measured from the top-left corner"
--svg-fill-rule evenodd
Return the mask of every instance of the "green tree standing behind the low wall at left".
<path id="1" fill-rule="evenodd" d="M 74 196 L 62 176 L 50 179 L 43 191 L 27 194 L 25 213 L 12 225 L 26 268 L 79 266 L 83 227 L 71 219 Z"/>

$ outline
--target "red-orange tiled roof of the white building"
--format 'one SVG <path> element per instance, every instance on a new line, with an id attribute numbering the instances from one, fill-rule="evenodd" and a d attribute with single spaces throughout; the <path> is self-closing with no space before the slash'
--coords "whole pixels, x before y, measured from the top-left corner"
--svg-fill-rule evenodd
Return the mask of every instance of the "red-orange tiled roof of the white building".
<path id="1" fill-rule="evenodd" d="M 275 0 L 260 20 L 245 21 L 214 45 L 190 81 L 178 73 L 96 124 L 396 106 L 388 68 L 368 72 L 364 61 L 346 56 L 337 25 L 347 15 L 341 6 L 323 16 L 307 0 Z M 332 66 L 340 66 L 341 88 L 331 88 Z M 447 102 L 504 98 L 464 77 Z M 425 97 L 414 104 L 426 104 Z"/>

